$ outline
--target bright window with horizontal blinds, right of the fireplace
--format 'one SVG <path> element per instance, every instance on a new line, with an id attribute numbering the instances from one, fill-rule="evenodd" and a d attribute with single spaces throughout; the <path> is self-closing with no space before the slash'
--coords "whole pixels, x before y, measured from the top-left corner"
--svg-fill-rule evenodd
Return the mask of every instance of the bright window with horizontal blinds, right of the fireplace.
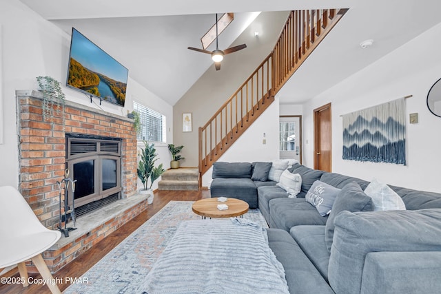
<path id="1" fill-rule="evenodd" d="M 133 109 L 141 116 L 141 133 L 138 140 L 165 143 L 166 126 L 165 116 L 159 112 L 145 107 L 141 103 L 133 102 Z"/>

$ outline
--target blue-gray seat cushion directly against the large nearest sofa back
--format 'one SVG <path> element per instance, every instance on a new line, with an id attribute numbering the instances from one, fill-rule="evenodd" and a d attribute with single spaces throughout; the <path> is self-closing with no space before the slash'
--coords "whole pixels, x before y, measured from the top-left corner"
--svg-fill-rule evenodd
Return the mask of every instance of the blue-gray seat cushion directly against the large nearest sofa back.
<path id="1" fill-rule="evenodd" d="M 289 234 L 322 277 L 328 280 L 329 252 L 325 244 L 325 226 L 296 226 L 289 230 Z"/>

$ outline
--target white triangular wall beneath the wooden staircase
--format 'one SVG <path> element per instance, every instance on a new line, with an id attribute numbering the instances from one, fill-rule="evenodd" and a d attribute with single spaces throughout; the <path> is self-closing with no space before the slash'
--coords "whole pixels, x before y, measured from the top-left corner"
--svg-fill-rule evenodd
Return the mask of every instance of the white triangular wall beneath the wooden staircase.
<path id="1" fill-rule="evenodd" d="M 278 98 L 261 114 L 245 133 L 229 147 L 218 161 L 254 162 L 270 161 L 279 158 L 278 145 Z M 266 144 L 263 144 L 265 133 Z M 212 182 L 210 168 L 202 177 L 202 186 L 209 187 Z"/>

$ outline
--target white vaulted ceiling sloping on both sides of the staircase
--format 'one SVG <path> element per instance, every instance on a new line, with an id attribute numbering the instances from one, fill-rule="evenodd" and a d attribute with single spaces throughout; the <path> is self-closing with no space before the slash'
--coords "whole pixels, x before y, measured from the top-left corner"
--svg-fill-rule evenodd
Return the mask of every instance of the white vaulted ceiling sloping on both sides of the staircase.
<path id="1" fill-rule="evenodd" d="M 437 0 L 21 1 L 67 34 L 78 29 L 171 105 L 206 70 L 214 70 L 207 54 L 187 47 L 201 48 L 201 36 L 213 25 L 215 13 L 235 13 L 219 37 L 220 47 L 227 48 L 247 27 L 265 37 L 267 24 L 254 21 L 258 12 L 350 8 L 280 91 L 280 103 L 305 102 L 441 22 Z M 374 43 L 362 50 L 359 44 L 365 39 Z"/>

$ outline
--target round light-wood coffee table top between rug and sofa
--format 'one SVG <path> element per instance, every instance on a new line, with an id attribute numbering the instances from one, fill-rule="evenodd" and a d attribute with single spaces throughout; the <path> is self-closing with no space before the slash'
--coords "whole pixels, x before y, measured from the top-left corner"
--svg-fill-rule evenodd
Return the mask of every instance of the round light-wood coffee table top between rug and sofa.
<path id="1" fill-rule="evenodd" d="M 228 209 L 219 210 L 218 204 L 227 204 Z M 248 203 L 236 198 L 227 198 L 227 201 L 220 202 L 218 198 L 201 199 L 193 203 L 193 212 L 202 218 L 233 218 L 242 216 L 248 211 Z"/>

